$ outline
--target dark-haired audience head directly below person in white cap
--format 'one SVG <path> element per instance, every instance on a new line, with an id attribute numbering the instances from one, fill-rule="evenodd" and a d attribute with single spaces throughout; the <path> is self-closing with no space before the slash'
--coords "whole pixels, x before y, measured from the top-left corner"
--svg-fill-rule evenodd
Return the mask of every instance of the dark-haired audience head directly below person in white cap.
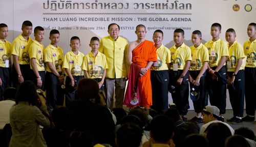
<path id="1" fill-rule="evenodd" d="M 226 138 L 232 135 L 229 128 L 223 123 L 210 124 L 204 133 L 207 134 L 206 138 L 210 147 L 224 147 Z"/>

